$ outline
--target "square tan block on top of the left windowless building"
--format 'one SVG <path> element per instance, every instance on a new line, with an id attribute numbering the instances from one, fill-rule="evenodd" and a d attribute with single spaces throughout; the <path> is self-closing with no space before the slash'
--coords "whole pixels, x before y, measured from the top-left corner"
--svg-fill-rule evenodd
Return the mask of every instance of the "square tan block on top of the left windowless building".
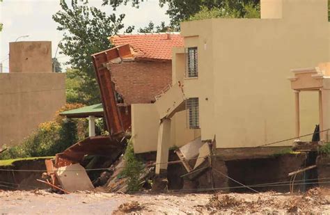
<path id="1" fill-rule="evenodd" d="M 9 42 L 10 72 L 52 72 L 52 42 Z"/>

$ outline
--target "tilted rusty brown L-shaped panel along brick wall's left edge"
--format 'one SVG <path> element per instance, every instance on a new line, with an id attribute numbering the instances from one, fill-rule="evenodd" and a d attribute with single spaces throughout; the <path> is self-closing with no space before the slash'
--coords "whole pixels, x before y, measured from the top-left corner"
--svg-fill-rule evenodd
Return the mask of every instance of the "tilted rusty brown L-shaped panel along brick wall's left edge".
<path id="1" fill-rule="evenodd" d="M 107 63 L 111 61 L 121 61 L 124 57 L 132 56 L 129 45 L 115 47 L 106 51 L 93 54 L 93 64 L 100 86 L 104 115 L 111 136 L 125 132 L 123 120 L 116 103 L 114 84 L 111 81 L 111 72 L 107 68 Z"/>

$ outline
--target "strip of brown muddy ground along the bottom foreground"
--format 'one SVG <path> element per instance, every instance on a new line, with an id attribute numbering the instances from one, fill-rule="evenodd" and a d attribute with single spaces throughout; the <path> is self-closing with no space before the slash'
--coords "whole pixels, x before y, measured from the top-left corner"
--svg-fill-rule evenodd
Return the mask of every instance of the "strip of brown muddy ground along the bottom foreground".
<path id="1" fill-rule="evenodd" d="M 328 191 L 148 194 L 0 191 L 0 214 L 330 214 Z"/>

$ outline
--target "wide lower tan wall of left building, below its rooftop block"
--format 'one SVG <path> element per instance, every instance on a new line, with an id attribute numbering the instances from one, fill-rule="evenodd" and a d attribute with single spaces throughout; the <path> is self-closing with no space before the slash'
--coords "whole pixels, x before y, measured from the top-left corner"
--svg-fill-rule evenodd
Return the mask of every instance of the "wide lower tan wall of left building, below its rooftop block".
<path id="1" fill-rule="evenodd" d="M 65 104 L 65 74 L 0 74 L 0 148 L 15 145 Z"/>

